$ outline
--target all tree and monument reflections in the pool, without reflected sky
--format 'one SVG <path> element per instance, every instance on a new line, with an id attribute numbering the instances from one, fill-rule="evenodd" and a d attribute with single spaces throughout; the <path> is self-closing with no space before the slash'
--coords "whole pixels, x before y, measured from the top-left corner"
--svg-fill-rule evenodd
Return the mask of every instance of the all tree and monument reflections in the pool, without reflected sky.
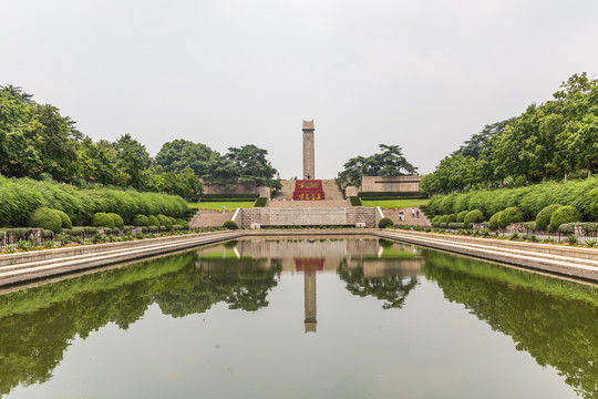
<path id="1" fill-rule="evenodd" d="M 598 397 L 596 288 L 368 238 L 229 242 L 0 296 L 0 396 L 50 380 L 73 340 L 111 323 L 127 329 L 152 304 L 175 318 L 219 303 L 251 313 L 268 307 L 283 272 L 303 274 L 305 332 L 317 330 L 322 273 L 383 309 L 404 308 L 424 276 L 538 365 L 558 369 L 579 395 Z"/>

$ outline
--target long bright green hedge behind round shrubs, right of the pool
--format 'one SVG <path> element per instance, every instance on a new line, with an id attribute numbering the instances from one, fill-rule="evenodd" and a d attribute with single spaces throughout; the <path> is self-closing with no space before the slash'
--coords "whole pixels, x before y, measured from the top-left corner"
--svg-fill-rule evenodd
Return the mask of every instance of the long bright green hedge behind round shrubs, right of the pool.
<path id="1" fill-rule="evenodd" d="M 567 183 L 543 183 L 526 187 L 473 191 L 434 195 L 429 208 L 434 215 L 480 209 L 486 219 L 508 207 L 517 207 L 533 219 L 548 205 L 571 205 L 585 221 L 598 222 L 598 176 Z"/>

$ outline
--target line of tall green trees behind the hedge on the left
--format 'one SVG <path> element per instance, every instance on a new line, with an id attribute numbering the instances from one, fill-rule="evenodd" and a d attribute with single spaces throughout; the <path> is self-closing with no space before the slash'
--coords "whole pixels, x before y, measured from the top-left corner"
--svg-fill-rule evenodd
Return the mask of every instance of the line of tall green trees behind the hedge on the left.
<path id="1" fill-rule="evenodd" d="M 202 181 L 234 187 L 240 181 L 279 186 L 268 152 L 255 145 L 220 155 L 185 140 L 165 143 L 155 158 L 131 134 L 94 142 L 50 104 L 39 104 L 19 86 L 0 86 L 0 174 L 54 180 L 80 187 L 133 187 L 195 200 Z"/>

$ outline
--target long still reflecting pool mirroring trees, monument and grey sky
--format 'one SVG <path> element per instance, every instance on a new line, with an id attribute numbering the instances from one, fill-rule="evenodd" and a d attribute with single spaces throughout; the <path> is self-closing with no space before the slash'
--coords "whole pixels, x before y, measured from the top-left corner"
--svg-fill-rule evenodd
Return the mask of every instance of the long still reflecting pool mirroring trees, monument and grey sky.
<path id="1" fill-rule="evenodd" d="M 2 398 L 598 398 L 598 289 L 241 239 L 0 293 Z"/>

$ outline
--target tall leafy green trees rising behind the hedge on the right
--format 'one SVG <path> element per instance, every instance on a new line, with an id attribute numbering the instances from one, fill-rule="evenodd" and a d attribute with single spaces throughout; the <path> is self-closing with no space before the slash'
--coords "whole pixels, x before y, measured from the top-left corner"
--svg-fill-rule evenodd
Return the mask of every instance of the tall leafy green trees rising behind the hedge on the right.
<path id="1" fill-rule="evenodd" d="M 425 193 L 448 193 L 590 176 L 598 166 L 598 80 L 563 82 L 553 100 L 486 125 L 424 176 Z"/>

